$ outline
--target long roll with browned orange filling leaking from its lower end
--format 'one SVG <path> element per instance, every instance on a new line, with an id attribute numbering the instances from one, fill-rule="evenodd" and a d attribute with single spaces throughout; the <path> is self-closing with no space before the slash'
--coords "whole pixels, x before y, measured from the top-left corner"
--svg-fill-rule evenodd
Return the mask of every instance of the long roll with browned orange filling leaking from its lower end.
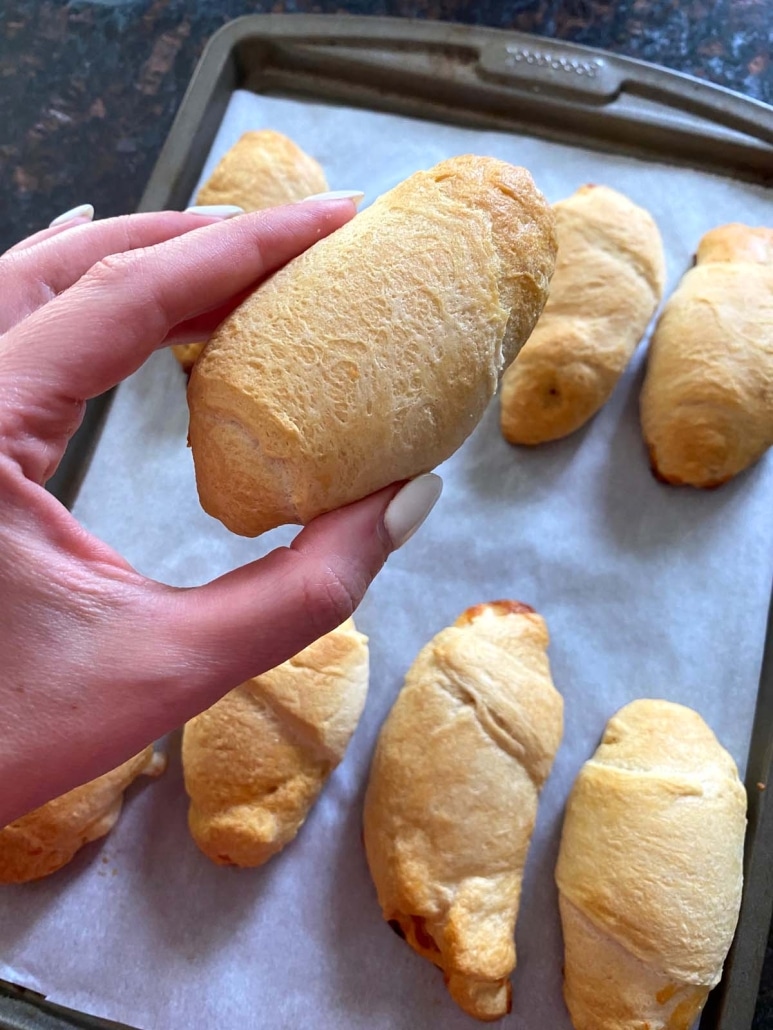
<path id="1" fill-rule="evenodd" d="M 479 1020 L 510 1010 L 537 798 L 563 731 L 545 623 L 471 608 L 419 653 L 383 724 L 365 849 L 385 920 Z"/>

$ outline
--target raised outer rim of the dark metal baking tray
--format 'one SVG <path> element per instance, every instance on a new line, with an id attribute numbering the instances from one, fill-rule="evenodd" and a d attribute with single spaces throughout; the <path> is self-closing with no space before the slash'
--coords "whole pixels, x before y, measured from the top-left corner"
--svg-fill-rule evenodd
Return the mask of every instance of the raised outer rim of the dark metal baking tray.
<path id="1" fill-rule="evenodd" d="M 316 40 L 313 37 L 317 37 Z M 235 67 L 235 52 L 239 45 L 247 40 L 271 43 L 303 41 L 313 43 L 314 41 L 329 42 L 331 38 L 338 41 L 359 40 L 371 45 L 377 42 L 383 43 L 388 39 L 397 43 L 423 43 L 433 46 L 470 45 L 471 42 L 475 41 L 490 43 L 516 41 L 523 45 L 532 45 L 538 52 L 572 53 L 581 59 L 603 58 L 631 77 L 639 76 L 650 81 L 654 77 L 674 87 L 677 93 L 678 90 L 684 90 L 692 96 L 698 95 L 702 104 L 708 108 L 714 108 L 719 113 L 727 113 L 728 108 L 730 108 L 731 122 L 733 114 L 737 113 L 739 108 L 743 108 L 747 112 L 748 122 L 757 122 L 763 130 L 767 128 L 771 118 L 771 108 L 767 105 L 735 94 L 724 87 L 705 82 L 683 72 L 659 68 L 636 58 L 610 54 L 581 44 L 566 43 L 549 37 L 532 36 L 486 26 L 468 26 L 418 19 L 349 14 L 246 14 L 228 22 L 208 41 L 180 102 L 138 209 L 154 210 L 160 207 L 179 206 L 179 204 L 158 204 L 157 198 L 161 194 L 171 198 L 175 192 L 179 193 L 179 177 L 170 175 L 170 171 L 175 166 L 179 167 L 194 148 L 198 150 L 200 156 L 203 154 L 196 171 L 198 176 L 214 137 L 214 132 L 212 132 L 206 140 L 196 138 L 200 136 L 198 128 L 204 121 L 202 112 L 205 107 L 211 106 L 216 90 L 220 89 L 221 92 L 230 96 L 235 89 L 239 88 L 240 82 Z M 229 64 L 232 65 L 230 69 Z M 230 76 L 224 74 L 227 70 L 230 70 Z M 513 93 L 517 92 L 517 89 L 513 88 Z M 223 107 L 225 107 L 225 103 Z M 192 126 L 197 132 L 191 132 Z M 525 131 L 528 132 L 528 130 Z M 182 145 L 183 143 L 187 145 Z M 187 200 L 188 196 L 182 198 L 180 203 L 186 203 Z M 88 430 L 86 442 L 77 455 L 79 467 L 68 470 L 67 476 L 55 484 L 53 492 L 60 495 L 69 505 L 74 502 L 77 489 L 88 469 L 91 454 L 98 441 L 99 431 L 107 415 L 109 400 L 110 396 L 105 394 L 103 398 L 97 399 L 97 404 L 93 406 L 93 411 L 90 414 L 93 414 L 94 417 L 90 418 L 89 423 L 85 426 Z M 763 722 L 767 723 L 767 727 L 763 727 Z M 753 758 L 757 760 L 752 760 Z M 726 965 L 726 971 L 728 968 L 732 971 L 735 967 L 733 956 L 742 936 L 745 942 L 748 931 L 743 932 L 741 929 L 744 925 L 744 919 L 746 919 L 745 925 L 747 926 L 753 922 L 758 934 L 761 926 L 764 926 L 765 941 L 767 941 L 767 927 L 773 912 L 773 877 L 763 877 L 763 871 L 768 864 L 768 859 L 773 856 L 773 809 L 765 803 L 765 786 L 769 783 L 771 767 L 773 767 L 773 598 L 769 609 L 765 656 L 750 737 L 746 776 L 750 808 L 746 859 L 747 866 L 750 862 L 754 862 L 752 872 L 755 874 L 747 878 L 751 886 L 744 885 L 739 931 Z M 761 855 L 757 845 L 763 838 L 766 847 Z M 760 887 L 759 891 L 754 890 L 754 885 Z M 749 919 L 749 914 L 755 918 Z M 738 977 L 743 983 L 737 988 L 736 993 L 741 994 L 742 1002 L 747 1011 L 753 1011 L 765 954 L 765 941 L 761 937 L 752 941 L 752 954 L 744 957 L 746 963 L 751 962 L 752 968 L 745 965 Z M 724 994 L 721 993 L 726 980 L 727 976 L 724 976 L 722 985 L 712 992 L 712 1003 L 707 1006 L 704 1012 L 701 1021 L 702 1028 L 704 1028 L 704 1019 L 709 1014 L 711 1014 L 712 1019 L 718 1021 L 715 1023 L 716 1030 L 739 1030 L 740 1028 L 739 1023 L 726 1023 L 724 1022 L 725 1017 L 717 1015 L 722 997 L 727 996 L 727 990 Z M 731 1019 L 732 1016 L 731 1012 Z M 10 1019 L 14 1019 L 15 1022 L 9 1022 Z M 7 1028 L 7 1030 L 33 1030 L 33 1028 L 34 1030 L 49 1030 L 49 1028 L 53 1030 L 55 1027 L 97 1030 L 97 1028 L 125 1026 L 125 1024 L 101 1020 L 87 1012 L 77 1012 L 48 1002 L 37 992 L 0 980 L 0 1027 Z"/>

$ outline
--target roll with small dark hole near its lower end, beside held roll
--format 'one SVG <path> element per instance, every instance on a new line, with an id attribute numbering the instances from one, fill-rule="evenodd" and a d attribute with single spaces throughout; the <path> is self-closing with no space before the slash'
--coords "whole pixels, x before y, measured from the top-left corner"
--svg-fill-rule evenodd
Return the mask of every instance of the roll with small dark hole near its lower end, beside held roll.
<path id="1" fill-rule="evenodd" d="M 559 256 L 537 328 L 502 380 L 513 444 L 558 440 L 609 400 L 663 296 L 663 242 L 651 215 L 607 186 L 553 205 Z"/>

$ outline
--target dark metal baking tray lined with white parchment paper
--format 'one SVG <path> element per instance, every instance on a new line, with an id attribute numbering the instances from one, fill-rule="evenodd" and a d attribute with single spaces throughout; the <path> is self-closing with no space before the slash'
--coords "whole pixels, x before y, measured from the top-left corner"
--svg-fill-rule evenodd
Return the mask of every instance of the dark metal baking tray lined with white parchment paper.
<path id="1" fill-rule="evenodd" d="M 139 210 L 188 203 L 236 89 L 527 133 L 773 184 L 773 110 L 721 87 L 601 50 L 498 29 L 386 18 L 254 14 L 210 40 Z M 773 198 L 772 198 L 773 199 Z M 72 505 L 108 410 L 89 405 L 48 488 Z M 735 942 L 701 1030 L 750 1027 L 773 913 L 773 604 L 746 789 Z M 123 1027 L 0 981 L 6 1030 Z"/>

